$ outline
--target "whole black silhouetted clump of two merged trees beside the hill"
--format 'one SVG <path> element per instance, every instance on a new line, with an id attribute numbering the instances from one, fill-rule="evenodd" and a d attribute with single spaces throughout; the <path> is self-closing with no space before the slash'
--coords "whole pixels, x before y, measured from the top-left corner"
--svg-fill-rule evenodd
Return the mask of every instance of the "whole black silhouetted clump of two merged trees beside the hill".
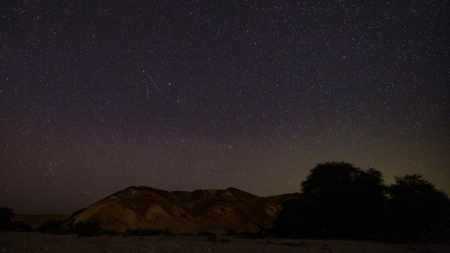
<path id="1" fill-rule="evenodd" d="M 278 236 L 449 240 L 449 198 L 419 175 L 398 177 L 386 186 L 375 169 L 326 162 L 312 169 L 301 189 L 300 196 L 285 202 L 278 213 Z"/>

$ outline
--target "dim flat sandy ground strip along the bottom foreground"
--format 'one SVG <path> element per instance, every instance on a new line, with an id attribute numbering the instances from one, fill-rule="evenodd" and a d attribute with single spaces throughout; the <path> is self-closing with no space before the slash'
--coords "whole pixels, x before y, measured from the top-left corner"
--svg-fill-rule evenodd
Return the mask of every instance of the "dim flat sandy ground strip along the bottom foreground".
<path id="1" fill-rule="evenodd" d="M 450 252 L 450 245 L 408 245 L 358 241 L 241 239 L 216 236 L 97 236 L 0 233 L 0 252 Z"/>

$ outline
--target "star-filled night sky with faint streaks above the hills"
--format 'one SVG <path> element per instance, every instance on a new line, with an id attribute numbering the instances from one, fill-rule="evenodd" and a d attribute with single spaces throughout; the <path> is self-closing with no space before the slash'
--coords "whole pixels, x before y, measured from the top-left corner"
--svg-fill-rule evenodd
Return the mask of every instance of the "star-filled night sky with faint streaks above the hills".
<path id="1" fill-rule="evenodd" d="M 16 212 L 132 185 L 283 194 L 332 160 L 450 192 L 448 1 L 14 2 L 0 205 Z"/>

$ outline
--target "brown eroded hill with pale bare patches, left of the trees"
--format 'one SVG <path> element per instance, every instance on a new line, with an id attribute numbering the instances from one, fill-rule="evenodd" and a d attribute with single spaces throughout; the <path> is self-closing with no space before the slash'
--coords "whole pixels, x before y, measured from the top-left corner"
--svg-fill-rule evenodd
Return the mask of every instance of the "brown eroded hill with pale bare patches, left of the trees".
<path id="1" fill-rule="evenodd" d="M 129 187 L 72 216 L 67 226 L 96 221 L 104 229 L 170 229 L 175 233 L 258 232 L 271 227 L 284 200 L 294 194 L 261 198 L 235 188 L 163 191 Z"/>

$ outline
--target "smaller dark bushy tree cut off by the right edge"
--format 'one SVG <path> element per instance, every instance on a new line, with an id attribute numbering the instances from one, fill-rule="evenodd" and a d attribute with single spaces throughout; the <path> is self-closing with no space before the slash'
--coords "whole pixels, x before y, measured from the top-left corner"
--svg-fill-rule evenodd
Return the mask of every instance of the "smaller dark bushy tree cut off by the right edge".
<path id="1" fill-rule="evenodd" d="M 421 175 L 398 176 L 388 188 L 394 241 L 450 241 L 450 200 Z"/>

